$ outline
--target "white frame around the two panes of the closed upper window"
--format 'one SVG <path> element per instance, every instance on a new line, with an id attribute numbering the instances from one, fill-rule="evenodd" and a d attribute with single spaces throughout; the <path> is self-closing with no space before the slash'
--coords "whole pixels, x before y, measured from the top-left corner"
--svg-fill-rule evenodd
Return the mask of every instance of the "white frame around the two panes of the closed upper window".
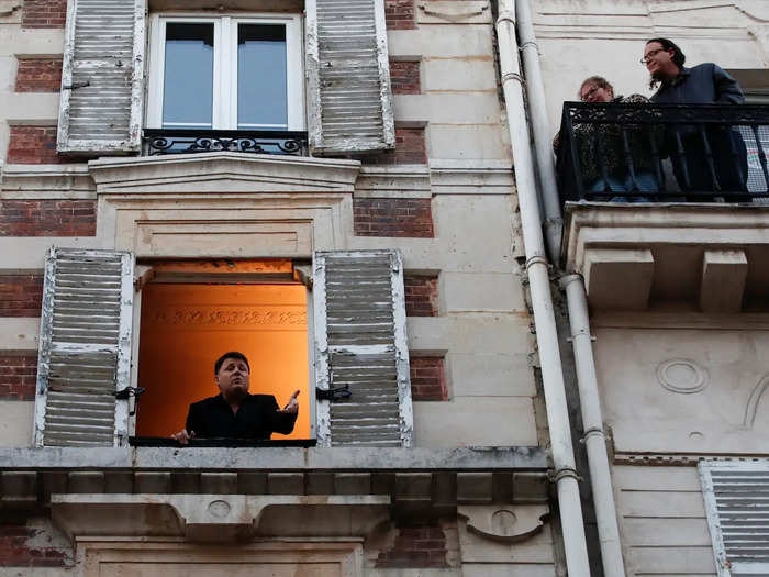
<path id="1" fill-rule="evenodd" d="M 171 23 L 213 24 L 213 130 L 237 130 L 237 25 L 283 24 L 286 26 L 286 95 L 288 127 L 304 126 L 304 46 L 299 14 L 232 14 L 202 16 L 196 13 L 156 13 L 149 16 L 149 81 L 147 82 L 147 129 L 163 127 L 166 25 Z M 226 42 L 225 42 L 226 40 Z M 179 126 L 180 129 L 183 126 Z M 259 129 L 254 129 L 259 130 Z"/>

